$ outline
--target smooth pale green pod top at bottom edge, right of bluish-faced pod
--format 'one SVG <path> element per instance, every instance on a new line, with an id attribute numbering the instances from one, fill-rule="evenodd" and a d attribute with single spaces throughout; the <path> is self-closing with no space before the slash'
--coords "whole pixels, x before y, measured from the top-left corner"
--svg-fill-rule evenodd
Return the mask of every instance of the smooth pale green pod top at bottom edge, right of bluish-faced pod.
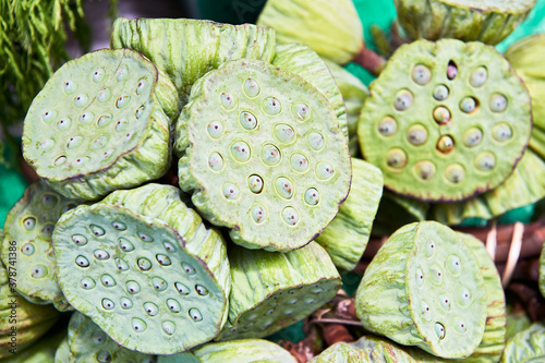
<path id="1" fill-rule="evenodd" d="M 157 363 L 296 363 L 283 348 L 263 339 L 240 339 L 206 343 L 191 352 L 161 355 Z"/>

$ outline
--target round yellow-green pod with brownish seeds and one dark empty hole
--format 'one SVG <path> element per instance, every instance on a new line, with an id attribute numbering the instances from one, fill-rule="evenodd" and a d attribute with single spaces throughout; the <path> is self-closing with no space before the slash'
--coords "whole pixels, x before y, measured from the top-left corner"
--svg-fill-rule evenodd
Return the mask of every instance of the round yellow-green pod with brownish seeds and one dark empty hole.
<path id="1" fill-rule="evenodd" d="M 402 46 L 370 89 L 360 146 L 396 193 L 468 199 L 501 184 L 526 148 L 528 90 L 505 58 L 481 43 Z"/>

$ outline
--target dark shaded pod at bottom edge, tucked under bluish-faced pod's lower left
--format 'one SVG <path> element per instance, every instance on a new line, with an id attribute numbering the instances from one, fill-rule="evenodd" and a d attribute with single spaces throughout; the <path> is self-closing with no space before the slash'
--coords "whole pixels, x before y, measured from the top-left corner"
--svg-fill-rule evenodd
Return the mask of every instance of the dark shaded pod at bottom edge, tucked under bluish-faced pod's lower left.
<path id="1" fill-rule="evenodd" d="M 129 350 L 114 342 L 102 329 L 92 319 L 83 314 L 74 313 L 72 319 L 83 319 L 76 325 L 70 325 L 70 362 L 134 362 L 153 363 L 157 359 L 154 355 L 138 353 Z M 74 329 L 75 326 L 75 329 Z"/>

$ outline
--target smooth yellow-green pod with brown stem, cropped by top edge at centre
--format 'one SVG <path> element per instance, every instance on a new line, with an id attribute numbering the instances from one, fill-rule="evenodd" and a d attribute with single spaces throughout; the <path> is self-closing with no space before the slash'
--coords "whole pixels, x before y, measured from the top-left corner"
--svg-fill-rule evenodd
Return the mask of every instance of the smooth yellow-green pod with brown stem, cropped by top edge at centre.
<path id="1" fill-rule="evenodd" d="M 257 25 L 276 29 L 278 43 L 302 43 L 344 64 L 363 47 L 363 27 L 351 0 L 269 0 Z"/>

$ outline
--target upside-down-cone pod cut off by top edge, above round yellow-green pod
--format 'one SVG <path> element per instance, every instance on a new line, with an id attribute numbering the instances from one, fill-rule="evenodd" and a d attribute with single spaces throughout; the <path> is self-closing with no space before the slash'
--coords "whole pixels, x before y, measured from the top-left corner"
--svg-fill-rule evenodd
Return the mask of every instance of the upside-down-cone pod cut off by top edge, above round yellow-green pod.
<path id="1" fill-rule="evenodd" d="M 411 39 L 456 38 L 496 45 L 528 16 L 536 0 L 395 0 Z"/>

